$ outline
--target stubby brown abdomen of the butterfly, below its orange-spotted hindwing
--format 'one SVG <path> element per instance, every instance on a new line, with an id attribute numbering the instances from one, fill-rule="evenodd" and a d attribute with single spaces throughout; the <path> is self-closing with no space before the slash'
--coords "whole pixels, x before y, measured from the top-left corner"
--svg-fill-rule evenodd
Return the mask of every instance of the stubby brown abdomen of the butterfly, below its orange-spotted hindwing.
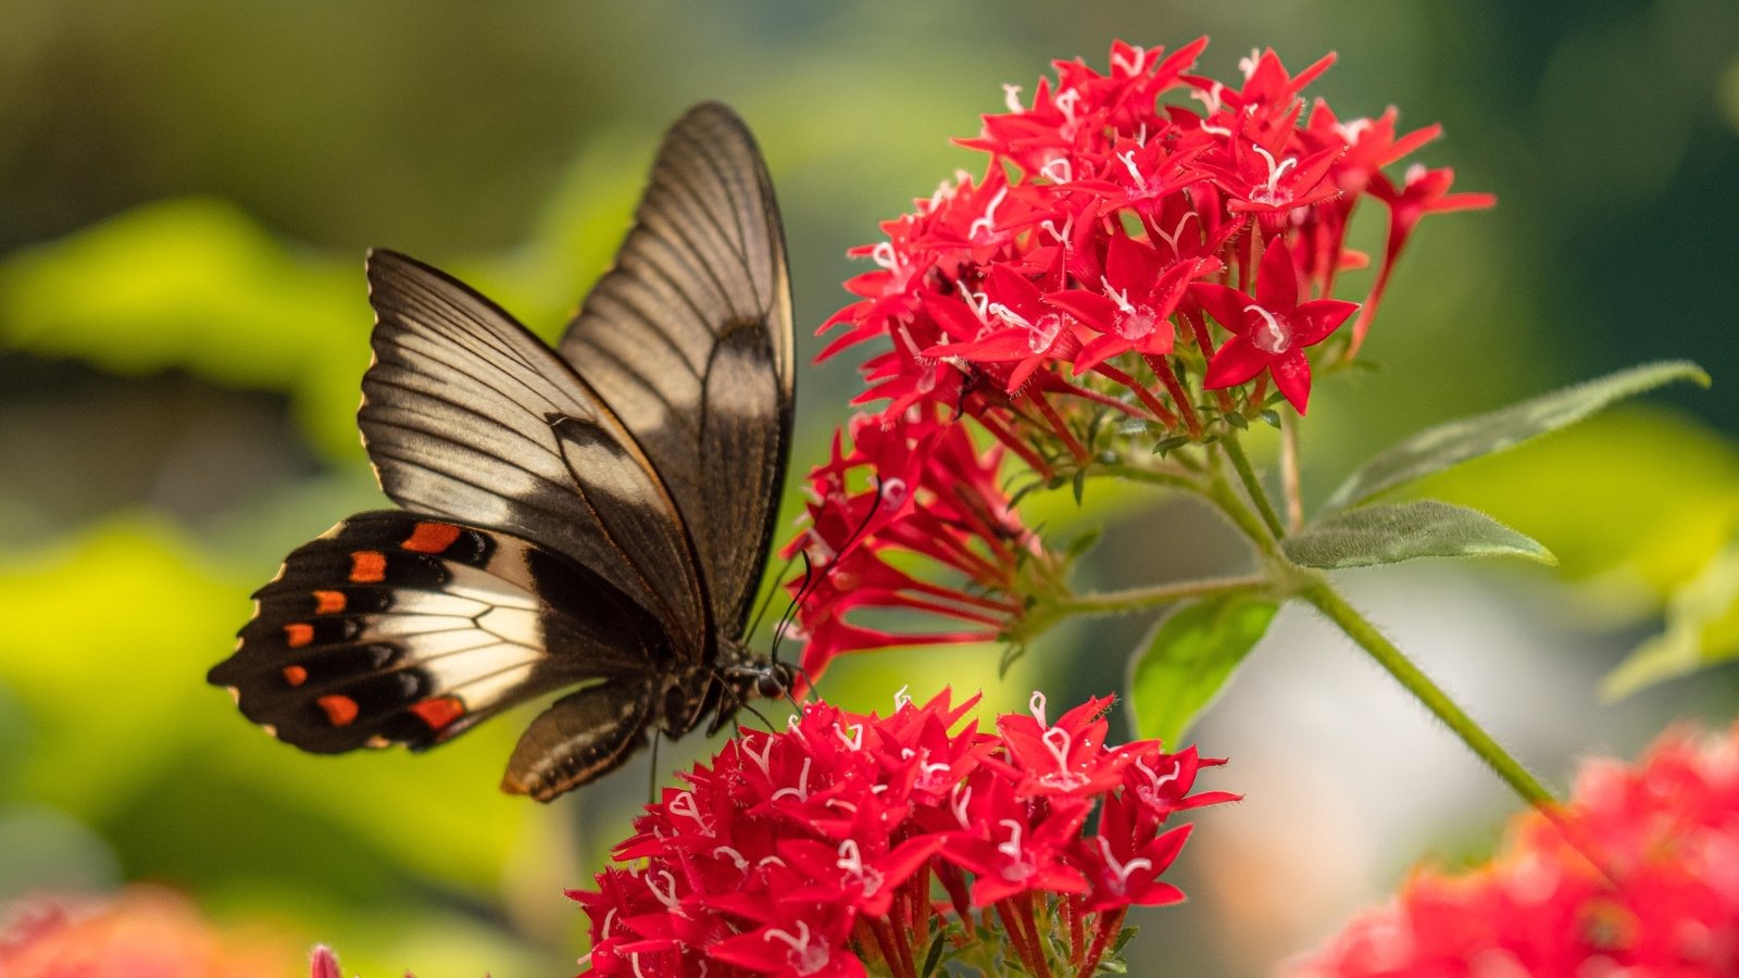
<path id="1" fill-rule="evenodd" d="M 621 767 L 645 747 L 652 682 L 616 680 L 556 700 L 520 736 L 501 790 L 546 802 Z"/>

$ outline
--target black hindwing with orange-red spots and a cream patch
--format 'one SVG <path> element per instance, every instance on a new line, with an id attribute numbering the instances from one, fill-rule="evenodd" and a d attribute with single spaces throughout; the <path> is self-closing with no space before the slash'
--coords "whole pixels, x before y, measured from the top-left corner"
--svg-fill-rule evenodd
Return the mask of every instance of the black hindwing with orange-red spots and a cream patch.
<path id="1" fill-rule="evenodd" d="M 254 593 L 207 679 L 316 754 L 443 743 L 541 693 L 670 668 L 657 621 L 523 539 L 402 512 L 355 515 Z"/>

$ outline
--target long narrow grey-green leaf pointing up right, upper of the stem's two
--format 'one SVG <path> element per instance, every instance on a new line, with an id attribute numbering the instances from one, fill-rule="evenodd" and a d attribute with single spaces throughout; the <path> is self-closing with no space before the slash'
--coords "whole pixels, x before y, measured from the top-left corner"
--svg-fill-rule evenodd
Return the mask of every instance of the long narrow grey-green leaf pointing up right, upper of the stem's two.
<path id="1" fill-rule="evenodd" d="M 1702 367 L 1685 360 L 1668 360 L 1631 367 L 1489 414 L 1428 428 L 1353 472 L 1323 505 L 1323 512 L 1344 510 L 1471 458 L 1501 452 L 1536 435 L 1574 425 L 1616 400 L 1673 381 L 1709 386 L 1709 376 Z"/>

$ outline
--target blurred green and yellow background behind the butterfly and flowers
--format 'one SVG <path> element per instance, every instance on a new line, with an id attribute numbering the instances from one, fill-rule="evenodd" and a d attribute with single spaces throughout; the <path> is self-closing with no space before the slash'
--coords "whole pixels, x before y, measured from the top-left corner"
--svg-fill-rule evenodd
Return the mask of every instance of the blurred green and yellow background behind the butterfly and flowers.
<path id="1" fill-rule="evenodd" d="M 584 928 L 562 889 L 645 800 L 643 760 L 541 807 L 496 792 L 516 719 L 430 755 L 316 759 L 202 680 L 289 548 L 381 503 L 353 428 L 363 249 L 450 268 L 551 336 L 607 265 L 657 134 L 725 99 L 772 169 L 812 353 L 861 270 L 845 249 L 981 167 L 949 137 L 1000 110 L 1003 82 L 1031 90 L 1052 57 L 1104 68 L 1113 38 L 1202 33 L 1223 78 L 1252 47 L 1294 68 L 1337 50 L 1308 94 L 1343 118 L 1396 104 L 1407 129 L 1442 122 L 1417 157 L 1501 198 L 1414 238 L 1367 346 L 1381 371 L 1311 404 L 1311 492 L 1421 425 L 1631 362 L 1716 378 L 1440 480 L 1560 571 L 1349 574 L 1355 600 L 1560 787 L 1577 755 L 1631 754 L 1673 717 L 1730 720 L 1730 668 L 1621 701 L 1598 682 L 1739 526 L 1739 5 L 9 0 L 0 901 L 151 881 L 223 926 L 332 941 L 346 971 L 572 973 Z M 802 371 L 796 472 L 856 390 L 849 362 Z M 1113 519 L 1083 586 L 1240 566 L 1189 506 Z M 1120 687 L 1146 626 L 1052 633 L 1003 679 L 996 649 L 875 656 L 824 691 L 1073 701 Z M 1261 973 L 1416 860 L 1489 851 L 1515 809 L 1290 609 L 1191 736 L 1233 759 L 1207 787 L 1247 800 L 1200 814 L 1177 870 L 1191 901 L 1132 945 L 1144 975 Z M 666 745 L 659 766 L 704 748 Z"/>

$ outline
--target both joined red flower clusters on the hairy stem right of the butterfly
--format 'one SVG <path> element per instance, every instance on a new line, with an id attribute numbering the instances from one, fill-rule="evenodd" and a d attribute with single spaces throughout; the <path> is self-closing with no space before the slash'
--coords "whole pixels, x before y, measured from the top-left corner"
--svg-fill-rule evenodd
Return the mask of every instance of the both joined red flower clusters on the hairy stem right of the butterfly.
<path id="1" fill-rule="evenodd" d="M 803 600 L 812 672 L 835 654 L 896 644 L 847 626 L 852 607 L 965 623 L 927 640 L 1007 633 L 1021 607 L 1007 585 L 1043 548 L 996 491 L 1005 456 L 1061 484 L 1125 447 L 1120 433 L 1177 445 L 1243 426 L 1276 399 L 1304 412 L 1306 350 L 1320 346 L 1318 360 L 1355 353 L 1419 219 L 1492 204 L 1449 193 L 1447 169 L 1414 167 L 1400 181 L 1383 172 L 1435 139 L 1436 125 L 1396 134 L 1393 108 L 1343 122 L 1320 99 L 1306 111 L 1299 92 L 1332 56 L 1289 75 L 1273 50 L 1252 54 L 1243 84 L 1224 85 L 1189 73 L 1205 47 L 1202 38 L 1165 56 L 1118 42 L 1106 75 L 1059 61 L 1056 84 L 1040 80 L 1024 108 L 1010 87 L 1009 111 L 984 117 L 963 141 L 989 155 L 984 176 L 958 174 L 883 223 L 885 240 L 854 249 L 876 270 L 849 282 L 863 298 L 823 325 L 843 331 L 823 357 L 885 341 L 863 365 L 859 399 L 882 405 L 866 416 L 873 425 L 850 423 L 850 451 L 836 445 L 812 473 L 810 527 L 791 548 L 807 548 L 817 567 L 857 550 L 868 567 L 856 576 L 883 583 Z M 1360 310 L 1334 287 L 1343 270 L 1367 265 L 1346 247 L 1367 197 L 1388 209 L 1388 245 Z M 967 435 L 937 433 L 962 416 L 1000 451 L 972 452 Z M 976 468 L 913 461 L 941 442 Z M 913 501 L 923 496 L 913 468 L 934 486 L 936 506 L 970 512 L 937 541 L 944 557 L 913 543 L 925 529 L 903 526 L 936 522 Z M 894 487 L 906 492 L 897 506 Z M 878 492 L 899 515 L 866 526 Z M 904 574 L 887 583 L 894 576 L 875 555 L 883 550 L 939 559 L 958 586 L 920 593 Z"/>

